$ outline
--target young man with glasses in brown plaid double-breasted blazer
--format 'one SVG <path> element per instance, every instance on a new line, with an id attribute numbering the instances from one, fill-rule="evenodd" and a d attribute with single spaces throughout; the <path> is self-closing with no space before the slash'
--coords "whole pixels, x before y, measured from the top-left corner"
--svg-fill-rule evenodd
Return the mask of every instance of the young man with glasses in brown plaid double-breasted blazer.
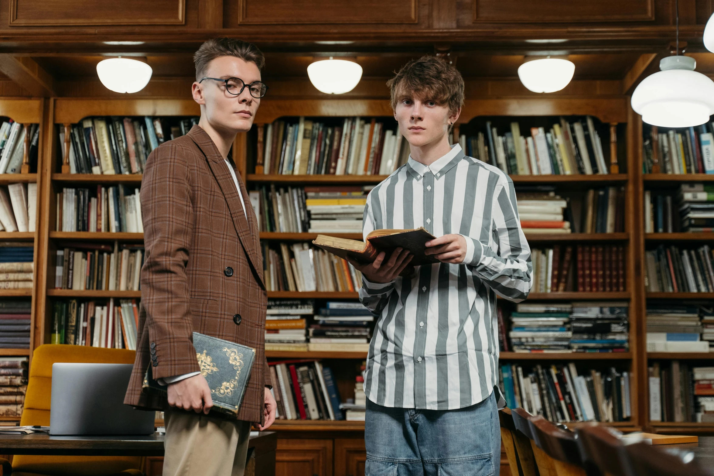
<path id="1" fill-rule="evenodd" d="M 198 126 L 146 161 L 141 183 L 146 256 L 141 339 L 124 400 L 165 410 L 164 475 L 241 476 L 251 422 L 265 430 L 276 402 L 265 358 L 267 293 L 255 213 L 231 158 L 261 98 L 263 54 L 236 39 L 206 41 L 193 57 Z M 256 350 L 237 418 L 211 413 L 193 332 Z M 142 393 L 146 369 L 168 397 Z"/>

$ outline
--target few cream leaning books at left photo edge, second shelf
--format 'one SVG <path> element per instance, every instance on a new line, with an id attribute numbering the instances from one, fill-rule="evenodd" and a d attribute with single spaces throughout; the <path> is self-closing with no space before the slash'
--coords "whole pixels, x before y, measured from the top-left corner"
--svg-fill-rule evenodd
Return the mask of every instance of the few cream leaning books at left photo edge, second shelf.
<path id="1" fill-rule="evenodd" d="M 35 231 L 37 183 L 0 186 L 0 231 Z"/>

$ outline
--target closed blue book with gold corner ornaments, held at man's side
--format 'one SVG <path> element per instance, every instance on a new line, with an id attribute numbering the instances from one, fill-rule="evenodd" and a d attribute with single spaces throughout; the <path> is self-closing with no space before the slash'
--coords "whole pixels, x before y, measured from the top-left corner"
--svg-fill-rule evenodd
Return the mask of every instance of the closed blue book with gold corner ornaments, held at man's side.
<path id="1" fill-rule="evenodd" d="M 208 388 L 211 389 L 211 411 L 238 415 L 238 408 L 243 401 L 253 368 L 253 360 L 256 359 L 256 350 L 201 333 L 193 333 L 193 348 L 196 349 L 201 375 L 206 378 Z M 159 385 L 151 378 L 149 365 L 142 388 L 145 392 L 166 395 L 167 386 Z"/>

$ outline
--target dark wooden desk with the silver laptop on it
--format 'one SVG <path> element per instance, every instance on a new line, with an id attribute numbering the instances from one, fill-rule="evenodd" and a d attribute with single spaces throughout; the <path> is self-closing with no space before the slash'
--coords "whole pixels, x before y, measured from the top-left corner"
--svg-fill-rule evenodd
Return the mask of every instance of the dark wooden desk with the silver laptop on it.
<path id="1" fill-rule="evenodd" d="M 248 448 L 256 457 L 256 475 L 275 474 L 278 434 L 251 436 Z M 55 436 L 47 433 L 0 435 L 0 455 L 164 456 L 164 435 Z"/>

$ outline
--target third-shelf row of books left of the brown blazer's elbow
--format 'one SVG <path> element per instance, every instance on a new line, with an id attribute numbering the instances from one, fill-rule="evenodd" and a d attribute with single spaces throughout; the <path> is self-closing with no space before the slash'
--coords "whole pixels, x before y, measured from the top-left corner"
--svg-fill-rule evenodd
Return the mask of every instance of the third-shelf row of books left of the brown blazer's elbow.
<path id="1" fill-rule="evenodd" d="M 144 246 L 104 243 L 65 243 L 55 261 L 55 289 L 141 289 Z M 1 248 L 0 248 L 1 249 Z"/>

